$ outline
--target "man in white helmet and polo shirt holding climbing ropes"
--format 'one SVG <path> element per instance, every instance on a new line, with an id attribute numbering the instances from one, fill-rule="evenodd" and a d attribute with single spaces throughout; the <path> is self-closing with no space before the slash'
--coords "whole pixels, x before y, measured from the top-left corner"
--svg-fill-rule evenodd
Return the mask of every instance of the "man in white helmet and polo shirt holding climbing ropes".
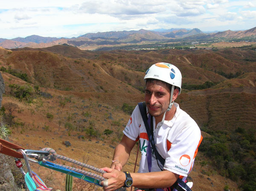
<path id="1" fill-rule="evenodd" d="M 164 165 L 156 159 L 154 150 L 148 149 L 148 134 L 137 105 L 121 142 L 116 146 L 111 168 L 102 168 L 107 171 L 103 177 L 108 180 L 102 183 L 105 191 L 131 184 L 143 189 L 168 188 L 179 177 L 187 177 L 201 143 L 201 131 L 195 121 L 174 103 L 181 91 L 181 78 L 179 69 L 169 63 L 154 64 L 144 77 L 147 115 L 153 117 L 154 143 L 165 159 Z M 122 167 L 138 139 L 142 154 L 138 173 L 124 173 Z"/>

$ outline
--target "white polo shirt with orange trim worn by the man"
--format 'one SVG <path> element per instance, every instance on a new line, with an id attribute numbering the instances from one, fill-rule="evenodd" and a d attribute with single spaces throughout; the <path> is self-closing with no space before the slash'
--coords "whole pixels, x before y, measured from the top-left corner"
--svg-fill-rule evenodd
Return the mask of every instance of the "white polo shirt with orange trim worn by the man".
<path id="1" fill-rule="evenodd" d="M 177 103 L 174 103 L 174 105 L 177 108 L 174 117 L 170 121 L 165 120 L 160 128 L 155 128 L 155 118 L 153 117 L 154 142 L 158 153 L 165 159 L 164 167 L 161 166 L 161 168 L 187 177 L 195 160 L 195 153 L 201 139 L 201 131 L 195 121 L 180 109 Z M 148 172 L 146 157 L 148 134 L 138 105 L 134 109 L 123 133 L 131 140 L 139 139 L 142 156 L 138 172 Z M 169 150 L 168 147 L 170 147 Z M 159 165 L 161 165 L 160 162 Z M 154 171 L 161 170 L 152 151 L 151 172 Z"/>

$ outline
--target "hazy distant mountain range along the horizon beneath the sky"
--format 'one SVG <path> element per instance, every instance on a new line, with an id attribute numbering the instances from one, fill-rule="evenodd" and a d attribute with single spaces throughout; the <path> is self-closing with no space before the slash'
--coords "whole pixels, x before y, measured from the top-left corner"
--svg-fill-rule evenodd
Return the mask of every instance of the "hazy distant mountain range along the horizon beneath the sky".
<path id="1" fill-rule="evenodd" d="M 56 38 L 41 37 L 32 35 L 25 38 L 17 37 L 11 40 L 0 38 L 0 46 L 3 48 L 46 48 L 54 45 L 67 44 L 76 46 L 81 50 L 95 50 L 97 48 L 109 46 L 128 46 L 150 43 L 168 43 L 183 39 L 215 39 L 215 38 L 243 38 L 256 37 L 256 27 L 246 31 L 223 31 L 206 34 L 200 29 L 168 29 L 149 31 L 140 29 L 139 31 L 110 31 L 87 33 L 79 37 Z"/>

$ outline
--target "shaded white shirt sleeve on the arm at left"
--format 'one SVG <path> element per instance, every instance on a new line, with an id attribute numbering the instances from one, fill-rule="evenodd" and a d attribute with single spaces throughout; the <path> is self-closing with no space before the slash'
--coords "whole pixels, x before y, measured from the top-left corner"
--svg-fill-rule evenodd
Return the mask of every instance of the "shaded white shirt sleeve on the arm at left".
<path id="1" fill-rule="evenodd" d="M 131 140 L 137 140 L 137 137 L 139 136 L 140 133 L 140 109 L 139 105 L 137 105 L 134 109 L 134 111 L 131 114 L 131 117 L 123 131 L 123 133 L 129 137 Z"/>

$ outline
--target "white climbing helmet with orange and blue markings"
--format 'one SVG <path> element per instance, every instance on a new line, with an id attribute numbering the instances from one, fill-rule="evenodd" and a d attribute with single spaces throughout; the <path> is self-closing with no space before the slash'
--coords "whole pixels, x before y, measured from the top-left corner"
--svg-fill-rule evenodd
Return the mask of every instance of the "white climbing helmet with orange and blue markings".
<path id="1" fill-rule="evenodd" d="M 181 73 L 180 70 L 169 63 L 156 63 L 152 65 L 147 71 L 144 80 L 153 78 L 169 83 L 179 88 L 181 91 Z"/>

